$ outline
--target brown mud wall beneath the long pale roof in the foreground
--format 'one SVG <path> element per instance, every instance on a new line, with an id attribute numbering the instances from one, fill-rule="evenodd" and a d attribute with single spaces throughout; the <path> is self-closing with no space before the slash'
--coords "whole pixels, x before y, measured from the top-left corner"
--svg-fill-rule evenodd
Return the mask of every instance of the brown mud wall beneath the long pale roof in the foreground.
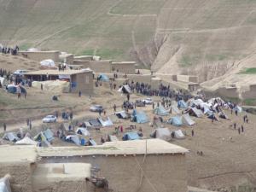
<path id="1" fill-rule="evenodd" d="M 83 157 L 50 157 L 43 162 L 85 162 L 99 166 L 99 175 L 106 177 L 113 192 L 187 191 L 185 156 L 182 154 L 95 155 Z M 69 191 L 69 189 L 67 189 Z"/>

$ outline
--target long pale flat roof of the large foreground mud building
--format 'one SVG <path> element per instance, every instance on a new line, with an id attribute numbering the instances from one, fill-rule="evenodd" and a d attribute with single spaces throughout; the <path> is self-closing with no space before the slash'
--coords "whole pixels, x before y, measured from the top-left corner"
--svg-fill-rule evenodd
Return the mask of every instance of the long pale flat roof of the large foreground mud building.
<path id="1" fill-rule="evenodd" d="M 147 149 L 146 149 L 147 146 Z M 38 155 L 49 156 L 84 156 L 94 154 L 184 154 L 188 149 L 167 143 L 160 139 L 117 141 L 104 143 L 96 147 L 54 147 L 38 148 Z"/>

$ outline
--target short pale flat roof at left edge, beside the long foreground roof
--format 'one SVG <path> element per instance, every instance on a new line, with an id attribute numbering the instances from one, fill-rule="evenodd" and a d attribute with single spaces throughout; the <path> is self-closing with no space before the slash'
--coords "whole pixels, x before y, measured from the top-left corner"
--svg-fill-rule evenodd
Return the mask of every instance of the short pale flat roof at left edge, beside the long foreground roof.
<path id="1" fill-rule="evenodd" d="M 33 146 L 0 145 L 0 163 L 34 162 L 37 157 Z"/>

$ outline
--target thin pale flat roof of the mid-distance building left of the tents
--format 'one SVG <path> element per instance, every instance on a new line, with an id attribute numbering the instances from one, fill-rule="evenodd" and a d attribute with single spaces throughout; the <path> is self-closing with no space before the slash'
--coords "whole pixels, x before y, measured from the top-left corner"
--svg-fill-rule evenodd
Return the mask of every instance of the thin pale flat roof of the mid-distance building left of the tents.
<path id="1" fill-rule="evenodd" d="M 34 72 L 28 72 L 25 73 L 25 75 L 73 75 L 73 74 L 79 74 L 79 73 L 91 73 L 91 71 L 85 71 L 85 70 L 65 70 L 65 71 L 59 71 L 59 70 L 39 70 Z"/>

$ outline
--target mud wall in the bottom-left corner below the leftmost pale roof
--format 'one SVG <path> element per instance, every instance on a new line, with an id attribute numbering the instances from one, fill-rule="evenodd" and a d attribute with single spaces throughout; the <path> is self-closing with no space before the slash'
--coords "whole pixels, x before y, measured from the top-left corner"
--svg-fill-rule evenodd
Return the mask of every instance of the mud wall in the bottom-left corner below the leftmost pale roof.
<path id="1" fill-rule="evenodd" d="M 0 164 L 0 177 L 11 176 L 12 192 L 32 192 L 32 166 L 29 163 Z"/>

